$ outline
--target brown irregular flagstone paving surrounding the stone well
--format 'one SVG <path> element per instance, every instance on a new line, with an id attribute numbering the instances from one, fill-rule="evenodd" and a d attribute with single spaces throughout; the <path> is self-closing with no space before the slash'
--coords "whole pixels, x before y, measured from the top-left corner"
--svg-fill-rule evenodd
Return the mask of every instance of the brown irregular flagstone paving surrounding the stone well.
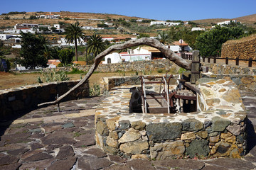
<path id="1" fill-rule="evenodd" d="M 0 123 L 0 169 L 256 169 L 256 96 L 242 93 L 248 147 L 242 159 L 123 159 L 95 145 L 95 108 L 103 96 L 31 111 Z"/>

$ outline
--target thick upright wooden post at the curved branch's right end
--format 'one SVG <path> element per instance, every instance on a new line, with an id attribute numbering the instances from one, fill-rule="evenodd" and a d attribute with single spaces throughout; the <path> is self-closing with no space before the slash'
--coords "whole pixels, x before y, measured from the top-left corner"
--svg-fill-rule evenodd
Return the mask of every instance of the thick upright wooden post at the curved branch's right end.
<path id="1" fill-rule="evenodd" d="M 193 51 L 192 64 L 191 64 L 191 84 L 196 84 L 200 79 L 200 57 L 199 51 Z"/>

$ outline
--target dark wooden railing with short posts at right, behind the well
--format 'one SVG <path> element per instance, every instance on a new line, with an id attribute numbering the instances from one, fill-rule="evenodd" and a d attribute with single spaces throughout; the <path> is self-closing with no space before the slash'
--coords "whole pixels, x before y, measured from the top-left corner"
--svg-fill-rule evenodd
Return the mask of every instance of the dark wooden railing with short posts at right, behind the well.
<path id="1" fill-rule="evenodd" d="M 186 59 L 186 60 L 192 60 L 192 55 L 189 55 L 189 54 L 181 54 L 181 57 L 183 59 Z M 220 57 L 201 57 L 203 59 L 203 62 L 206 62 L 206 59 L 207 59 L 207 62 L 210 63 L 210 60 L 213 60 L 213 63 L 216 63 L 217 60 L 225 60 L 225 64 L 228 64 L 228 61 L 229 60 L 235 60 L 235 65 L 239 66 L 239 61 L 245 61 L 245 62 L 248 62 L 248 67 L 252 67 L 252 62 L 256 62 L 256 60 L 252 60 L 252 58 L 250 58 L 249 60 L 247 59 L 240 59 L 239 57 L 236 57 L 235 59 L 233 58 L 228 58 L 228 57 L 225 57 L 225 58 L 220 58 Z"/>

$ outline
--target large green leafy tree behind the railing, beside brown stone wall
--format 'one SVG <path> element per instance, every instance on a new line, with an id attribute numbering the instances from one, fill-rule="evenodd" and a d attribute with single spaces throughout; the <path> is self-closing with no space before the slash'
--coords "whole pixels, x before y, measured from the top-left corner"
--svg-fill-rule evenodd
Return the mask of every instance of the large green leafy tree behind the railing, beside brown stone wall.
<path id="1" fill-rule="evenodd" d="M 221 46 L 224 42 L 242 38 L 245 35 L 242 28 L 215 26 L 213 30 L 198 35 L 195 43 L 196 50 L 200 50 L 200 54 L 205 57 L 217 56 L 221 54 Z"/>

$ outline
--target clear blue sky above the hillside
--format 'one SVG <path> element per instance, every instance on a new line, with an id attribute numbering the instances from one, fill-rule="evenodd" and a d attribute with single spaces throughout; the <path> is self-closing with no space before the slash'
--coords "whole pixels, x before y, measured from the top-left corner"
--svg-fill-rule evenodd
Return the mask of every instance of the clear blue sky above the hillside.
<path id="1" fill-rule="evenodd" d="M 112 13 L 163 21 L 193 21 L 255 14 L 256 0 L 1 0 L 0 13 L 10 11 Z"/>

